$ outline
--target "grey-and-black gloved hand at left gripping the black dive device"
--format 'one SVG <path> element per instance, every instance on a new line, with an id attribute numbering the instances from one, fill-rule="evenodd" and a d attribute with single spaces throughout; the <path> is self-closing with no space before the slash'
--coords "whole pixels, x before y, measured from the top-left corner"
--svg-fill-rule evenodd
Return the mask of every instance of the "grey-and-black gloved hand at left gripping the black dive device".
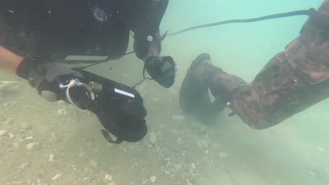
<path id="1" fill-rule="evenodd" d="M 66 84 L 73 78 L 84 78 L 79 72 L 59 62 L 43 62 L 35 65 L 32 65 L 32 62 L 34 61 L 25 59 L 19 66 L 19 68 L 24 67 L 19 69 L 22 74 L 18 76 L 27 79 L 30 85 L 38 90 L 39 95 L 50 102 L 65 99 L 64 90 L 59 88 L 60 83 Z"/>

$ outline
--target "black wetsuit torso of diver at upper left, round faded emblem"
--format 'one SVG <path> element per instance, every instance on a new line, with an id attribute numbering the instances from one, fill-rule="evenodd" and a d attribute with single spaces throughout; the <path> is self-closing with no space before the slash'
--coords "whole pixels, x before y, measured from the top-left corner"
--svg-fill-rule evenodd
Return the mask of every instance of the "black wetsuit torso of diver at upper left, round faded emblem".
<path id="1" fill-rule="evenodd" d="M 116 59 L 127 51 L 132 31 L 139 39 L 136 54 L 143 55 L 147 36 L 157 34 L 167 4 L 168 0 L 0 0 L 0 45 L 25 57 Z"/>

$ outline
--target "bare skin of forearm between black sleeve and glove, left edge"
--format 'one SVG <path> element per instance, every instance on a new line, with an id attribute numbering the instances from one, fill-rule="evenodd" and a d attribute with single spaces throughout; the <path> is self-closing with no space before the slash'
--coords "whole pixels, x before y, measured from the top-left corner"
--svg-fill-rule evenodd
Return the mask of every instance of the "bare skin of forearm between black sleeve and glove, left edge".
<path id="1" fill-rule="evenodd" d="M 24 57 L 20 57 L 10 50 L 0 45 L 0 68 L 16 72 L 18 65 L 22 62 Z"/>

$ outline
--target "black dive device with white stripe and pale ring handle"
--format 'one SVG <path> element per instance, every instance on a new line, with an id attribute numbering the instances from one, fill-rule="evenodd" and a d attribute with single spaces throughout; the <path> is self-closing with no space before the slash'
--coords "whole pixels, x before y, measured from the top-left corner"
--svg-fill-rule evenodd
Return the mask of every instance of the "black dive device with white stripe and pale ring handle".
<path id="1" fill-rule="evenodd" d="M 84 79 L 61 83 L 67 102 L 82 111 L 92 111 L 105 128 L 103 137 L 110 143 L 138 142 L 148 131 L 147 111 L 137 90 L 83 69 L 74 69 Z M 117 137 L 112 139 L 109 132 Z"/>

